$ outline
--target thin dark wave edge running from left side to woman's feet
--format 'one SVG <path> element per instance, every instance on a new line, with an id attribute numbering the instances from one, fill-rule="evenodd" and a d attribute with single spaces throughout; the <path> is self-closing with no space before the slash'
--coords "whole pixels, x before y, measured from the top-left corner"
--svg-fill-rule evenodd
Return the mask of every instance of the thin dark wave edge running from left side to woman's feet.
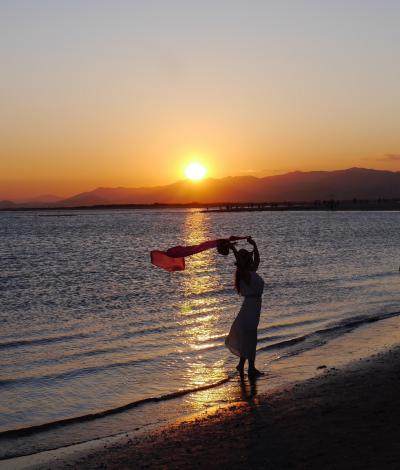
<path id="1" fill-rule="evenodd" d="M 86 415 L 75 416 L 72 418 L 60 419 L 57 421 L 37 424 L 34 426 L 28 426 L 25 428 L 10 429 L 7 431 L 2 431 L 0 432 L 0 438 L 27 436 L 27 435 L 34 434 L 37 432 L 43 432 L 43 431 L 48 431 L 49 429 L 54 429 L 54 428 L 61 427 L 61 426 L 67 426 L 69 424 L 82 423 L 85 421 L 91 421 L 91 420 L 98 419 L 98 418 L 104 418 L 106 416 L 114 415 L 117 413 L 122 413 L 132 408 L 136 408 L 146 403 L 156 403 L 160 401 L 172 400 L 174 398 L 179 398 L 181 396 L 188 395 L 189 393 L 200 392 L 202 390 L 208 390 L 210 388 L 219 387 L 220 385 L 223 385 L 224 383 L 229 382 L 229 380 L 231 380 L 236 374 L 237 374 L 236 372 L 231 373 L 227 375 L 226 377 L 224 377 L 223 379 L 218 380 L 217 382 L 213 382 L 211 384 L 201 385 L 200 387 L 187 388 L 184 390 L 177 390 L 175 392 L 167 393 L 165 395 L 161 395 L 158 397 L 143 398 L 142 400 L 133 401 L 131 403 L 118 406 L 116 408 L 110 408 L 108 410 L 99 411 L 96 413 L 89 413 Z"/>

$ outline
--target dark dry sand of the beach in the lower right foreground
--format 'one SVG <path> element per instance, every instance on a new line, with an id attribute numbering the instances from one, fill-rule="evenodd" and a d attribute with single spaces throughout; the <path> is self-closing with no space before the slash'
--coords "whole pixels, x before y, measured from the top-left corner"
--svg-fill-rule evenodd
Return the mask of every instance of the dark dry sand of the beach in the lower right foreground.
<path id="1" fill-rule="evenodd" d="M 400 348 L 320 373 L 45 468 L 399 469 Z"/>

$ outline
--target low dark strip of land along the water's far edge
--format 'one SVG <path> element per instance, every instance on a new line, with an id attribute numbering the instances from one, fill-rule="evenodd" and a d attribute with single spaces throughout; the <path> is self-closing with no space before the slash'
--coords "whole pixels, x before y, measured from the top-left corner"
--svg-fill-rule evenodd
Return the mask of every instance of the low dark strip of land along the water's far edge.
<path id="1" fill-rule="evenodd" d="M 110 209 L 202 209 L 202 212 L 279 212 L 279 211 L 400 211 L 400 199 L 323 200 L 313 202 L 219 202 L 188 204 L 95 204 L 87 206 L 4 207 L 0 212 L 76 211 Z"/>

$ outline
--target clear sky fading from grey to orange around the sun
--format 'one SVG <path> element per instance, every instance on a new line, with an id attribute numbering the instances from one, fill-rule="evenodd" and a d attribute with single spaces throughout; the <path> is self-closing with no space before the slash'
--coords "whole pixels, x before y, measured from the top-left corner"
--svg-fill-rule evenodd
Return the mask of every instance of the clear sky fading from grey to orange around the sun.
<path id="1" fill-rule="evenodd" d="M 400 2 L 0 0 L 0 199 L 400 171 Z"/>

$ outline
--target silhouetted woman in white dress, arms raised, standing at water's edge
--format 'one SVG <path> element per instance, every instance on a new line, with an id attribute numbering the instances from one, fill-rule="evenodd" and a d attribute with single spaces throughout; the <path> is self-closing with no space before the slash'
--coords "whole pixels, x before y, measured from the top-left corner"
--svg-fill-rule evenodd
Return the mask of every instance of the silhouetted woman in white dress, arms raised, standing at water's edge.
<path id="1" fill-rule="evenodd" d="M 242 307 L 235 318 L 229 335 L 225 340 L 226 346 L 236 356 L 240 357 L 236 369 L 243 374 L 244 364 L 248 360 L 249 375 L 262 375 L 256 369 L 257 327 L 260 321 L 261 295 L 264 289 L 264 281 L 256 271 L 260 264 L 260 254 L 256 242 L 249 237 L 247 241 L 253 245 L 253 251 L 245 249 L 237 250 L 233 243 L 230 248 L 236 258 L 235 287 L 244 297 Z"/>

